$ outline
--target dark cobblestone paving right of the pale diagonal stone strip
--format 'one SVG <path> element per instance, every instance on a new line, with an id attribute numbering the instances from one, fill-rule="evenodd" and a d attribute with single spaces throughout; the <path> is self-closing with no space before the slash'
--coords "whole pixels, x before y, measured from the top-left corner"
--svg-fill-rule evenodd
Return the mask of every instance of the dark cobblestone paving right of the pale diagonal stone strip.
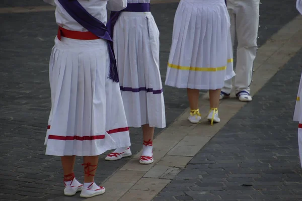
<path id="1" fill-rule="evenodd" d="M 160 200 L 302 200 L 292 121 L 302 48 L 170 184 Z"/>

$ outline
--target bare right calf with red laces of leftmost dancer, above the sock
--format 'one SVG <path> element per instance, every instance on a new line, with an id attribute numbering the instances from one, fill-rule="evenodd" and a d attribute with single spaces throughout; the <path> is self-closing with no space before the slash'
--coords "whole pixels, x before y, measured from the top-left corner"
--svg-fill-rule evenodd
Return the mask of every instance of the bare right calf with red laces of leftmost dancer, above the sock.
<path id="1" fill-rule="evenodd" d="M 97 171 L 99 156 L 84 156 L 83 159 L 84 159 L 83 165 L 85 168 L 84 182 L 91 183 L 94 181 L 94 175 Z"/>

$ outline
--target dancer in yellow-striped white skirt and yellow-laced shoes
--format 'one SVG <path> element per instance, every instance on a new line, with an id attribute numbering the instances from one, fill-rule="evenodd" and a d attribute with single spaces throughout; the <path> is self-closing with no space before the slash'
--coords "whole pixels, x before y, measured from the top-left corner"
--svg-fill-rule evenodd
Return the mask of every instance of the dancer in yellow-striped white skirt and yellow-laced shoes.
<path id="1" fill-rule="evenodd" d="M 174 19 L 166 84 L 187 88 L 191 123 L 201 119 L 199 89 L 208 89 L 207 119 L 220 122 L 218 105 L 225 79 L 232 78 L 230 18 L 224 0 L 181 0 Z"/>

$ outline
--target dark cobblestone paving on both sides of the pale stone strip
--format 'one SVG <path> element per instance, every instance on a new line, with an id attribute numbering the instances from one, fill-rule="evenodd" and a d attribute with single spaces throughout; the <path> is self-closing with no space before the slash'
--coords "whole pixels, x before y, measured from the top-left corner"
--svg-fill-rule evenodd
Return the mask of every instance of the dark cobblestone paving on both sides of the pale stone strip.
<path id="1" fill-rule="evenodd" d="M 262 1 L 259 46 L 297 16 L 294 2 Z M 163 82 L 177 5 L 157 4 L 152 8 L 161 32 Z M 23 6 L 47 5 L 42 1 L 19 0 L 0 3 L 0 9 Z M 48 59 L 57 30 L 54 14 L 0 14 L 0 22 L 0 200 L 82 200 L 79 196 L 62 195 L 60 158 L 44 155 L 50 110 Z M 291 121 L 301 58 L 302 51 L 154 200 L 302 200 L 297 124 Z M 188 103 L 183 89 L 164 86 L 164 92 L 169 126 Z M 156 135 L 160 132 L 157 129 Z M 134 154 L 140 150 L 141 140 L 140 130 L 131 129 Z M 100 157 L 98 183 L 129 160 L 105 162 L 105 156 L 106 153 Z M 75 174 L 80 179 L 83 178 L 81 163 L 82 159 L 78 158 L 75 165 Z"/>

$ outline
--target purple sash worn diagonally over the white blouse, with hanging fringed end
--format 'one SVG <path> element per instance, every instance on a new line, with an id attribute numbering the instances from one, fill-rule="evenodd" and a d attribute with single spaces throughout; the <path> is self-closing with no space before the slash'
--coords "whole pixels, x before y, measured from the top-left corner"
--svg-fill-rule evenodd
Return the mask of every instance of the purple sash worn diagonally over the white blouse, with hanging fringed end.
<path id="1" fill-rule="evenodd" d="M 118 82 L 116 59 L 113 53 L 113 42 L 104 23 L 88 13 L 77 0 L 58 0 L 65 11 L 85 29 L 107 41 L 110 57 L 109 78 Z"/>

